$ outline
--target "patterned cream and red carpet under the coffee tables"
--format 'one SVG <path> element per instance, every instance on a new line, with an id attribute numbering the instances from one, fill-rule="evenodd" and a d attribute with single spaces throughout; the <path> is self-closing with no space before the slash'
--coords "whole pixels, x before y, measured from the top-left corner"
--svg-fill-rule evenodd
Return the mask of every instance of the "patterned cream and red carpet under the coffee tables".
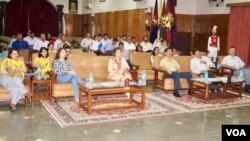
<path id="1" fill-rule="evenodd" d="M 140 99 L 139 95 L 135 95 L 135 97 L 136 99 Z M 111 98 L 124 99 L 127 98 L 127 96 L 100 96 L 98 97 L 98 100 Z M 188 96 L 186 94 L 182 94 L 181 98 L 176 98 L 171 94 L 166 95 L 160 92 L 147 93 L 146 105 L 144 110 L 119 110 L 92 113 L 91 115 L 87 115 L 84 110 L 78 109 L 72 99 L 62 99 L 58 103 L 43 100 L 42 103 L 62 127 L 67 127 L 94 124 L 100 122 L 120 121 L 143 117 L 163 116 L 170 114 L 191 113 L 196 111 L 247 106 L 250 105 L 250 97 L 243 96 L 242 98 L 216 99 L 204 101 Z M 102 107 L 108 106 L 110 105 L 102 105 Z"/>

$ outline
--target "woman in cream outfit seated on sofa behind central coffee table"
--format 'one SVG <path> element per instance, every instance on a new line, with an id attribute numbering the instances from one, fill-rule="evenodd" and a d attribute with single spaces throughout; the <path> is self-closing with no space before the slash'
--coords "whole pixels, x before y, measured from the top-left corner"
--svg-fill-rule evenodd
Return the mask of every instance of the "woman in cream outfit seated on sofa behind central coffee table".
<path id="1" fill-rule="evenodd" d="M 121 57 L 121 49 L 115 48 L 113 50 L 114 57 L 109 60 L 108 64 L 108 79 L 114 81 L 123 81 L 125 79 L 131 79 L 131 74 L 129 73 L 129 66 L 123 57 Z"/>

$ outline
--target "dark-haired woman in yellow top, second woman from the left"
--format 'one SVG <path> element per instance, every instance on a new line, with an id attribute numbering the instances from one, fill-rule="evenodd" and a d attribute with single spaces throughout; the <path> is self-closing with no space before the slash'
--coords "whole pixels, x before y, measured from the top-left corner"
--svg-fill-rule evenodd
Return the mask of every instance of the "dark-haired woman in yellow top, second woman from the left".
<path id="1" fill-rule="evenodd" d="M 47 72 L 51 71 L 48 49 L 46 49 L 45 47 L 41 47 L 38 56 L 34 59 L 32 65 L 33 67 L 41 68 L 42 76 L 46 75 Z M 38 74 L 38 69 L 35 73 Z"/>

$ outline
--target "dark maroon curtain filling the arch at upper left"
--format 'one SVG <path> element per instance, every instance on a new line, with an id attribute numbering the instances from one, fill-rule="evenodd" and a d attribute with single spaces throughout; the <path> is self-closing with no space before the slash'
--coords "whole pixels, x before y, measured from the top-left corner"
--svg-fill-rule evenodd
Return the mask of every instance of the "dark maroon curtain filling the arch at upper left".
<path id="1" fill-rule="evenodd" d="M 7 4 L 6 34 L 21 32 L 26 36 L 28 30 L 58 35 L 58 14 L 56 8 L 47 0 L 11 0 Z"/>

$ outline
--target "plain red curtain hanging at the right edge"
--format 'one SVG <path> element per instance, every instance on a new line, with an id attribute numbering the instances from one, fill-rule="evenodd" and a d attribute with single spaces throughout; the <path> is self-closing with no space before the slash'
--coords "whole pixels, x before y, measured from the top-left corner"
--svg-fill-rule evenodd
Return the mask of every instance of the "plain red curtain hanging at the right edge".
<path id="1" fill-rule="evenodd" d="M 231 7 L 227 47 L 235 47 L 237 55 L 248 64 L 250 46 L 250 6 Z M 249 62 L 250 63 L 250 62 Z"/>

